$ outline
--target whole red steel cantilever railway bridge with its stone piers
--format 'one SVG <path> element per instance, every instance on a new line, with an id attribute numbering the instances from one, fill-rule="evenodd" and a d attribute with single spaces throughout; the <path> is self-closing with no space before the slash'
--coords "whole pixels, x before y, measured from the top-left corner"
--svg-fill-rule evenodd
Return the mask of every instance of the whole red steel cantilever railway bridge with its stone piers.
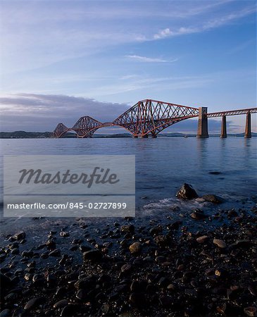
<path id="1" fill-rule="evenodd" d="M 75 131 L 77 137 L 92 137 L 96 130 L 109 126 L 125 128 L 133 137 L 156 137 L 170 125 L 194 117 L 199 118 L 197 137 L 208 137 L 208 118 L 213 117 L 222 117 L 220 137 L 227 137 L 226 116 L 242 114 L 246 114 L 245 137 L 251 137 L 251 113 L 257 113 L 257 108 L 208 113 L 206 107 L 193 108 L 145 99 L 137 102 L 113 122 L 101 123 L 89 116 L 83 116 L 77 120 L 73 128 L 67 128 L 63 123 L 59 123 L 54 130 L 54 137 L 62 137 L 68 131 Z"/>

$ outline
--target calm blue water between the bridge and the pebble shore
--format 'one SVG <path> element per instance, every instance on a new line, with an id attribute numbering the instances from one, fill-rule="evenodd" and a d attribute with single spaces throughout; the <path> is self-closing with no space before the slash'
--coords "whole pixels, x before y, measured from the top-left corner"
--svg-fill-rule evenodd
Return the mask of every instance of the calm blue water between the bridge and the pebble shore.
<path id="1" fill-rule="evenodd" d="M 227 200 L 224 206 L 232 206 L 256 194 L 257 138 L 254 137 L 2 139 L 1 148 L 4 155 L 134 154 L 136 202 L 141 213 L 184 204 L 175 199 L 175 193 L 184 182 L 191 184 L 199 196 L 224 197 Z M 211 175 L 211 171 L 218 171 L 220 175 Z M 2 175 L 1 164 L 1 180 Z M 189 204 L 182 206 L 187 208 Z M 7 224 L 5 220 L 4 225 Z"/>

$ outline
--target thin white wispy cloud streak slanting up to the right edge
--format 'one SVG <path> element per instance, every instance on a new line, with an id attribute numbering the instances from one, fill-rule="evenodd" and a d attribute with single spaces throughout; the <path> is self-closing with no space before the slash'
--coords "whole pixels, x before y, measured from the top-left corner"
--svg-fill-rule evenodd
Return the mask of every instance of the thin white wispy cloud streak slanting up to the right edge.
<path id="1" fill-rule="evenodd" d="M 256 13 L 256 7 L 244 8 L 241 11 L 233 12 L 228 15 L 224 15 L 221 18 L 211 19 L 203 23 L 203 25 L 198 27 L 179 27 L 176 30 L 170 30 L 169 27 L 166 27 L 163 30 L 160 30 L 158 33 L 153 35 L 153 39 L 165 39 L 166 37 L 175 37 L 179 35 L 189 35 L 193 33 L 204 32 L 211 30 L 216 27 L 221 27 L 222 25 L 227 25 L 234 20 L 244 18 L 247 15 Z"/>

